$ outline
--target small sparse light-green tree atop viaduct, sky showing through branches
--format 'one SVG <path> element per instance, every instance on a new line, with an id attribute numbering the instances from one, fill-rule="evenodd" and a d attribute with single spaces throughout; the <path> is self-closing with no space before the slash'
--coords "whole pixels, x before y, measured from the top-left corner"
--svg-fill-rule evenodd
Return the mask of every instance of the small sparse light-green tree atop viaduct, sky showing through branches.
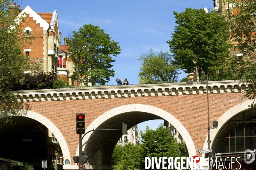
<path id="1" fill-rule="evenodd" d="M 180 74 L 179 68 L 174 64 L 170 52 L 160 51 L 155 54 L 150 49 L 148 54 L 143 54 L 140 60 L 140 83 L 152 82 L 177 82 Z"/>

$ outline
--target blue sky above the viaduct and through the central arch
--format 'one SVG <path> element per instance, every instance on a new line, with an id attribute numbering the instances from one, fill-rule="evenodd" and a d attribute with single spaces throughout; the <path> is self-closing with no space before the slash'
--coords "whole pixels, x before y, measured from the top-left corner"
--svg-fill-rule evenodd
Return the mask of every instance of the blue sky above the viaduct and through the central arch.
<path id="1" fill-rule="evenodd" d="M 38 13 L 57 10 L 62 39 L 84 24 L 93 24 L 119 42 L 122 51 L 113 57 L 115 77 L 108 85 L 116 85 L 116 78 L 137 84 L 140 55 L 147 54 L 150 48 L 154 52 L 169 50 L 166 41 L 171 39 L 176 25 L 173 11 L 213 8 L 212 0 L 22 0 L 22 9 L 26 5 Z M 185 76 L 182 73 L 179 78 Z M 155 129 L 160 123 L 163 120 L 147 121 L 138 128 L 150 125 Z"/>

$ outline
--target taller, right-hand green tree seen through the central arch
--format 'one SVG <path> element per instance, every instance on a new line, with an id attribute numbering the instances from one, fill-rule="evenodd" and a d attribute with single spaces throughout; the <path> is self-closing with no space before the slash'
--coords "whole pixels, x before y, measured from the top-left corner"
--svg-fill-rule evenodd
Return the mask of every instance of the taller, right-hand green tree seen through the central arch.
<path id="1" fill-rule="evenodd" d="M 145 132 L 140 131 L 141 142 L 140 149 L 142 152 L 141 168 L 145 169 L 145 157 L 162 157 L 162 144 L 163 144 L 163 157 L 180 157 L 178 154 L 179 144 L 177 140 L 169 135 L 169 130 L 161 124 L 156 130 L 146 127 Z M 157 141 L 157 146 L 154 145 Z M 183 156 L 186 156 L 184 153 Z"/>

